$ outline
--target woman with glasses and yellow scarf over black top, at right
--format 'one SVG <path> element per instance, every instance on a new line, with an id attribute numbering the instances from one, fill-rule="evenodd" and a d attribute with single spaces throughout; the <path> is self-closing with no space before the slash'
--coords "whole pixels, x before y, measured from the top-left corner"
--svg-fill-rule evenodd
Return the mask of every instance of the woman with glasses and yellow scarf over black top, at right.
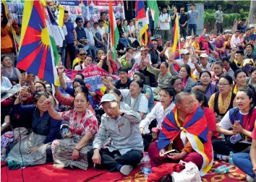
<path id="1" fill-rule="evenodd" d="M 218 92 L 214 93 L 209 100 L 209 108 L 216 113 L 217 116 L 225 116 L 229 109 L 234 108 L 236 103 L 234 98 L 236 95 L 231 92 L 233 87 L 233 79 L 225 74 L 220 77 L 218 82 Z"/>

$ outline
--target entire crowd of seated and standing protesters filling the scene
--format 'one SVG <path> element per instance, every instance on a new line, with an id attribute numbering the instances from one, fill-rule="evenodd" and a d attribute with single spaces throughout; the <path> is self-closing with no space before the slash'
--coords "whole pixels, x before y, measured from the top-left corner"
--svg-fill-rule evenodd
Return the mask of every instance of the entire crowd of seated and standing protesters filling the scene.
<path id="1" fill-rule="evenodd" d="M 219 6 L 218 34 L 204 30 L 197 35 L 194 5 L 187 14 L 184 8 L 180 14 L 178 10 L 167 14 L 163 8 L 160 35 L 152 31 L 150 45 L 142 47 L 134 21 L 116 19 L 116 58 L 108 51 L 105 12 L 92 27 L 77 17 L 75 28 L 65 12 L 64 27 L 53 30 L 59 82 L 69 97 L 58 86 L 15 67 L 10 27 L 17 35 L 20 30 L 1 14 L 1 87 L 22 86 L 1 102 L 1 152 L 12 161 L 9 168 L 19 168 L 22 155 L 25 165 L 54 162 L 58 168 L 106 168 L 129 175 L 148 151 L 152 167 L 183 160 L 194 162 L 203 174 L 213 160 L 229 161 L 234 152 L 234 165 L 247 174 L 247 181 L 254 181 L 255 27 L 245 33 L 223 30 Z M 176 17 L 180 50 L 172 52 L 168 31 Z M 101 78 L 104 87 L 93 90 L 80 73 L 71 87 L 66 84 L 65 68 L 86 71 L 92 64 L 109 73 Z M 178 152 L 165 155 L 171 149 Z"/>

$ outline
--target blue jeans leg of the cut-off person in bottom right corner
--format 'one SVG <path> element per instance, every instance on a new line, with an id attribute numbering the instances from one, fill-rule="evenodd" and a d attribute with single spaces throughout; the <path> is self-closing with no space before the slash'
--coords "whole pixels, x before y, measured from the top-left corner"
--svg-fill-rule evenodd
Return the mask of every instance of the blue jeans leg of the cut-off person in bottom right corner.
<path id="1" fill-rule="evenodd" d="M 252 170 L 252 161 L 248 153 L 236 153 L 233 155 L 232 160 L 237 168 L 244 171 L 244 173 L 252 178 L 256 178 L 255 173 L 253 173 Z"/>

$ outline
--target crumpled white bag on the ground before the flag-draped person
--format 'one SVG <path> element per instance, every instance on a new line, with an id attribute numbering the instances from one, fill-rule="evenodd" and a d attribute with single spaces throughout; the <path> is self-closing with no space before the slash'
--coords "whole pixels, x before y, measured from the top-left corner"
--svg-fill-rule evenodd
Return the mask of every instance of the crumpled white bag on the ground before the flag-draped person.
<path id="1" fill-rule="evenodd" d="M 201 176 L 195 163 L 181 160 L 179 164 L 185 165 L 185 168 L 179 173 L 171 173 L 172 182 L 201 182 Z"/>

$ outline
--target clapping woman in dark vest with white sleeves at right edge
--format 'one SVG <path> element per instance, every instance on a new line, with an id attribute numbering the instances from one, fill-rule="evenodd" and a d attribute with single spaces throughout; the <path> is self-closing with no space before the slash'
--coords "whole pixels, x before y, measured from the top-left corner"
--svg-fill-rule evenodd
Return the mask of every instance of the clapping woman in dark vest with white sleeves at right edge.
<path id="1" fill-rule="evenodd" d="M 242 152 L 251 145 L 256 118 L 255 97 L 252 85 L 239 88 L 236 95 L 238 107 L 231 108 L 216 126 L 216 131 L 226 136 L 226 141 L 214 139 L 212 142 L 218 160 L 229 161 L 230 152 Z"/>

